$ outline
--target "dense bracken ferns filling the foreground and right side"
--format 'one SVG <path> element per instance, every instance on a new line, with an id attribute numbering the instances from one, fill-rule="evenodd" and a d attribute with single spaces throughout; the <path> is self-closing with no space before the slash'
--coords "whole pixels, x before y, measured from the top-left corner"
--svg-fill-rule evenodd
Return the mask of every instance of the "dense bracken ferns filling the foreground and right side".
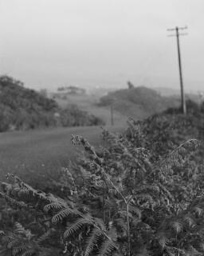
<path id="1" fill-rule="evenodd" d="M 204 114 L 191 110 L 104 130 L 97 150 L 73 136 L 86 154 L 44 187 L 8 174 L 0 255 L 203 255 Z"/>

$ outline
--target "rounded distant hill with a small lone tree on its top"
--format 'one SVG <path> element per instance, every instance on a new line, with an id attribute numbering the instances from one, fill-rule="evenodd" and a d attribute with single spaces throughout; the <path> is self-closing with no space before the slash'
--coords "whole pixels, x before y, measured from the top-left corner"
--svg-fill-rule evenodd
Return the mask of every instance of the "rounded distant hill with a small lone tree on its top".
<path id="1" fill-rule="evenodd" d="M 171 106 L 179 106 L 179 100 L 174 97 L 162 97 L 155 90 L 144 86 L 131 89 L 116 90 L 100 98 L 100 106 L 113 106 L 131 118 L 147 118 L 151 114 L 166 110 Z"/>

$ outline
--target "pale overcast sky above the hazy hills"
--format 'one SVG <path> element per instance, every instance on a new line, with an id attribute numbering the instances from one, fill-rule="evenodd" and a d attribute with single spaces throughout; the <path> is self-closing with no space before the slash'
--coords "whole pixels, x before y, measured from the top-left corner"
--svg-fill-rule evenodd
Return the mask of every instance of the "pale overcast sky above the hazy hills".
<path id="1" fill-rule="evenodd" d="M 33 88 L 179 86 L 204 90 L 203 0 L 0 0 L 0 74 Z M 203 88 L 202 88 L 203 84 Z"/>

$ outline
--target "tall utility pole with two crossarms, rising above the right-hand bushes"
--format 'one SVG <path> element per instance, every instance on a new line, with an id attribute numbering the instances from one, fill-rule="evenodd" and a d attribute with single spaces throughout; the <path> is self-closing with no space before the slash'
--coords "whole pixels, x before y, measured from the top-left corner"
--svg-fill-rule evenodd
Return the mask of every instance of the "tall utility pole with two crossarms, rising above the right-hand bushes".
<path id="1" fill-rule="evenodd" d="M 175 31 L 175 34 L 169 35 L 170 37 L 176 37 L 177 41 L 177 50 L 178 50 L 178 59 L 179 59 L 179 78 L 180 78 L 180 86 L 181 86 L 181 102 L 182 102 L 182 113 L 186 114 L 186 100 L 185 94 L 183 89 L 183 82 L 182 82 L 182 60 L 181 60 L 181 51 L 180 51 L 180 43 L 179 43 L 179 36 L 186 35 L 186 33 L 179 33 L 179 30 L 186 30 L 187 26 L 185 27 L 178 27 L 176 26 L 174 29 L 167 29 L 167 31 Z"/>

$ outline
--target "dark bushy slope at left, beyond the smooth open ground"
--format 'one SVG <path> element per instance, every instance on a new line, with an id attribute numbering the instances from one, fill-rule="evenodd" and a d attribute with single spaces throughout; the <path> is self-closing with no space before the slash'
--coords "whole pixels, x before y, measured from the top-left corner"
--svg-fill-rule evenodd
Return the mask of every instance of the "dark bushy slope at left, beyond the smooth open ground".
<path id="1" fill-rule="evenodd" d="M 0 77 L 0 132 L 49 126 L 92 126 L 103 124 L 75 105 L 61 109 L 53 99 L 23 87 L 13 78 Z"/>

